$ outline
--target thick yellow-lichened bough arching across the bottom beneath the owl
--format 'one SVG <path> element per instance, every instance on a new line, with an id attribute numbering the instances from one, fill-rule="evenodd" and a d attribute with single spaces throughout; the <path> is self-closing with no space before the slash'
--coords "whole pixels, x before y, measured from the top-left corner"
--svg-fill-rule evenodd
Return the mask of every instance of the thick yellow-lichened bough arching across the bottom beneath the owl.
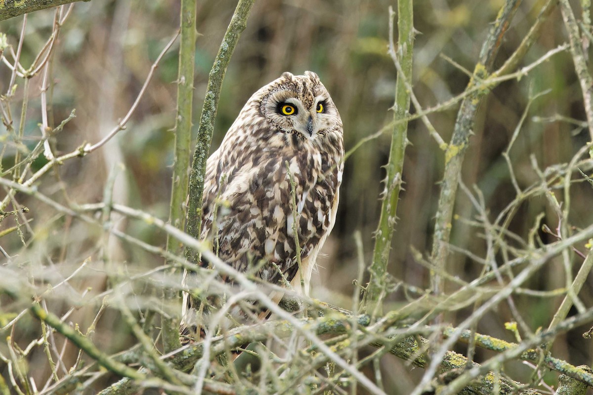
<path id="1" fill-rule="evenodd" d="M 353 319 L 356 320 L 356 325 L 366 327 L 366 333 L 359 333 L 359 345 L 366 343 L 377 348 L 387 347 L 387 352 L 396 355 L 396 357 L 411 361 L 418 367 L 426 367 L 428 360 L 425 357 L 425 352 L 428 346 L 428 340 L 422 336 L 400 335 L 400 338 L 385 338 L 385 333 L 388 330 L 394 329 L 401 325 L 403 320 L 407 319 L 406 314 L 401 314 L 400 311 L 390 311 L 385 314 L 383 319 L 375 325 L 371 325 L 371 319 L 368 315 L 362 314 L 358 317 L 350 315 L 350 311 L 345 309 L 334 308 L 326 303 L 320 303 L 324 307 L 324 311 L 319 310 L 320 317 L 315 319 L 303 319 L 308 330 L 317 335 L 342 335 L 349 333 L 353 327 Z M 335 310 L 334 310 L 335 309 Z M 329 310 L 329 311 L 328 311 Z M 325 314 L 325 315 L 323 315 Z M 593 310 L 586 311 L 583 314 L 571 317 L 562 323 L 559 327 L 553 330 L 546 330 L 538 333 L 531 339 L 527 339 L 522 343 L 509 343 L 500 339 L 492 338 L 491 336 L 480 335 L 472 333 L 469 330 L 463 332 L 460 341 L 468 342 L 470 336 L 474 336 L 476 344 L 482 348 L 490 349 L 499 352 L 497 363 L 511 360 L 521 359 L 523 361 L 538 362 L 543 358 L 544 364 L 552 370 L 562 372 L 569 377 L 579 380 L 589 385 L 593 384 L 593 374 L 590 371 L 584 370 L 580 367 L 575 367 L 557 358 L 551 357 L 550 354 L 541 355 L 541 351 L 534 349 L 539 343 L 556 336 L 561 332 L 566 332 L 585 322 L 590 322 L 593 319 Z M 295 327 L 285 320 L 274 320 L 262 323 L 255 326 L 241 326 L 226 333 L 224 336 L 219 336 L 213 339 L 211 343 L 211 358 L 216 355 L 227 352 L 228 349 L 240 347 L 246 343 L 265 341 L 270 336 L 277 336 L 278 338 L 288 338 L 294 333 Z M 403 328 L 405 331 L 405 328 Z M 415 333 L 432 332 L 431 327 L 424 327 L 424 329 L 416 330 Z M 444 336 L 454 335 L 454 328 L 447 328 L 444 330 Z M 369 336 L 370 335 L 370 336 Z M 382 340 L 375 340 L 381 338 Z M 196 343 L 195 345 L 184 348 L 178 354 L 174 355 L 168 360 L 174 368 L 180 371 L 190 371 L 194 367 L 196 361 L 202 358 L 204 353 L 204 342 Z M 498 380 L 500 393 L 510 394 L 519 393 L 523 395 L 535 395 L 537 391 L 532 389 L 519 390 L 522 384 L 515 381 L 508 380 L 503 377 L 496 377 L 496 374 L 490 369 L 492 362 L 487 362 L 485 365 L 476 363 L 471 364 L 471 370 L 467 370 L 467 358 L 461 354 L 453 351 L 448 351 L 442 359 L 441 374 L 447 375 L 448 380 L 457 380 L 456 387 L 461 394 L 474 393 L 490 393 L 495 380 Z M 151 370 L 156 367 L 150 367 Z M 129 380 L 122 380 L 120 383 L 114 384 L 118 388 L 126 388 L 123 384 L 129 383 Z M 444 386 L 440 388 L 441 391 L 451 393 L 453 387 Z M 460 389 L 461 388 L 461 389 Z M 138 388 L 135 388 L 138 389 Z M 513 392 L 515 391 L 515 392 Z M 113 393 L 113 392 L 110 392 Z M 118 392 L 119 393 L 119 392 Z M 131 394 L 133 391 L 123 391 L 121 394 Z"/>

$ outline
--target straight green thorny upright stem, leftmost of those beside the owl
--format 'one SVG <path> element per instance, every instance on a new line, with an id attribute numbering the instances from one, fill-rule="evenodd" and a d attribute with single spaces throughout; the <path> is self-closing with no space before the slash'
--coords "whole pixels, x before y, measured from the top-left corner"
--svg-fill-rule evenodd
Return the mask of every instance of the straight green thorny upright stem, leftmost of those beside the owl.
<path id="1" fill-rule="evenodd" d="M 184 203 L 189 184 L 190 143 L 192 142 L 193 76 L 196 56 L 196 0 L 182 0 L 180 12 L 181 42 L 179 46 L 179 69 L 177 73 L 177 114 L 175 122 L 175 153 L 173 160 L 173 185 L 169 221 L 177 229 L 184 230 L 186 211 Z M 167 236 L 167 251 L 182 255 L 183 244 Z M 174 299 L 178 293 L 164 290 L 165 299 Z M 179 323 L 173 317 L 162 317 L 162 343 L 165 352 L 180 347 Z"/>

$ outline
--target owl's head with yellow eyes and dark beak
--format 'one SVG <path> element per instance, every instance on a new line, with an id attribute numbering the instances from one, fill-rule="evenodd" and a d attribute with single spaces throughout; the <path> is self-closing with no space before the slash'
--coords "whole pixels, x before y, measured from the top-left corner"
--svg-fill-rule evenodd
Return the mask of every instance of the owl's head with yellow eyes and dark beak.
<path id="1" fill-rule="evenodd" d="M 329 92 L 314 72 L 282 76 L 260 89 L 260 114 L 282 133 L 297 134 L 308 140 L 326 133 L 342 133 L 342 119 Z"/>

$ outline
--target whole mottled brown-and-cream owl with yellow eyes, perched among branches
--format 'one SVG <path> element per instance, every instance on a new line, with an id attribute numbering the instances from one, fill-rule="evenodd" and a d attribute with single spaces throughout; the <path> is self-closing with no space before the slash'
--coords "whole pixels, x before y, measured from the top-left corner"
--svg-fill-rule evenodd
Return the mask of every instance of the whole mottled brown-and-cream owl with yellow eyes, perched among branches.
<path id="1" fill-rule="evenodd" d="M 283 73 L 251 96 L 208 159 L 201 239 L 259 284 L 290 282 L 308 295 L 336 221 L 343 158 L 342 120 L 317 74 Z M 184 285 L 201 285 L 196 277 L 186 271 Z M 184 293 L 182 343 L 208 332 L 199 306 Z"/>

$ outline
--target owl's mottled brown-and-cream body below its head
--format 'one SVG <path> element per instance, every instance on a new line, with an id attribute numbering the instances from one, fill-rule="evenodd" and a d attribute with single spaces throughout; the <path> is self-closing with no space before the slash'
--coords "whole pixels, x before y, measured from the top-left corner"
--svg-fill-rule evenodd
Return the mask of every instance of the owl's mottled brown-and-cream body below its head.
<path id="1" fill-rule="evenodd" d="M 283 133 L 265 140 L 245 134 L 225 139 L 207 163 L 202 239 L 238 271 L 279 284 L 298 271 L 296 220 L 301 260 L 311 258 L 310 277 L 336 218 L 342 158 L 341 130 L 298 145 Z"/>

